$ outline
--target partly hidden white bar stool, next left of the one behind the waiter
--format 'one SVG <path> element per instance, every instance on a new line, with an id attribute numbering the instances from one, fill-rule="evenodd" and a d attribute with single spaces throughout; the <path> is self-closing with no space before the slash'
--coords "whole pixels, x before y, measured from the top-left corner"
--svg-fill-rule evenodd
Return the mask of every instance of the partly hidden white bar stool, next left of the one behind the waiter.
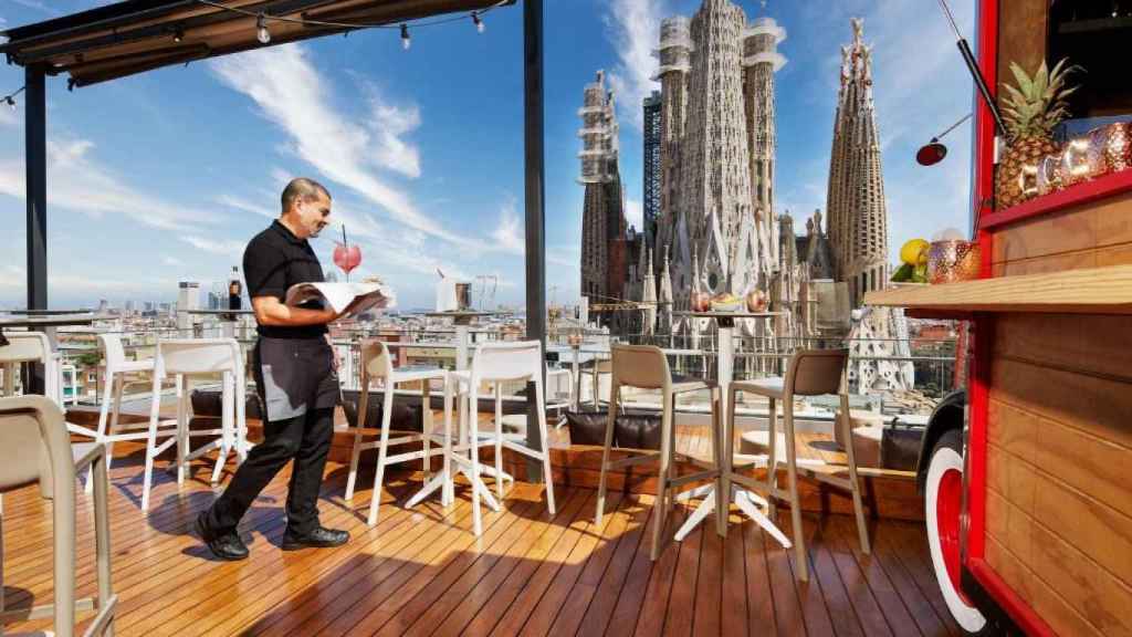
<path id="1" fill-rule="evenodd" d="M 122 408 L 125 388 L 153 383 L 154 362 L 153 358 L 127 360 L 122 339 L 118 334 L 98 334 L 98 346 L 102 349 L 102 357 L 106 362 L 106 377 L 102 391 L 102 408 L 98 410 L 98 428 L 94 439 L 106 445 L 106 472 L 109 473 L 113 461 L 114 442 L 148 438 L 147 425 L 119 426 L 118 417 Z M 89 493 L 89 483 L 86 489 Z"/>

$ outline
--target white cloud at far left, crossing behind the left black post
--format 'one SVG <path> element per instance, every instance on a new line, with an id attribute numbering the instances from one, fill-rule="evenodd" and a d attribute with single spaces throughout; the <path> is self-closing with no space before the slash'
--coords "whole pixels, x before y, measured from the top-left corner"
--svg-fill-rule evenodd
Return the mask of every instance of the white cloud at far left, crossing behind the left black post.
<path id="1" fill-rule="evenodd" d="M 170 203 L 138 190 L 92 155 L 88 139 L 48 141 L 48 207 L 60 206 L 94 216 L 123 214 L 139 223 L 163 230 L 187 230 L 215 223 L 211 212 Z M 26 175 L 24 161 L 0 162 L 0 194 L 23 199 Z"/>

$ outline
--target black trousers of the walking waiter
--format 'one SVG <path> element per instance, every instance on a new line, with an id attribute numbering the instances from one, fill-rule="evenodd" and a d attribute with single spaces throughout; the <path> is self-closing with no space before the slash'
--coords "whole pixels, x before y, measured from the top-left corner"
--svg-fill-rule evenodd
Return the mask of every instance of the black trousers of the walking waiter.
<path id="1" fill-rule="evenodd" d="M 218 534 L 235 530 L 259 492 L 290 460 L 286 495 L 288 530 L 306 535 L 318 527 L 318 491 L 331 451 L 334 408 L 310 409 L 302 416 L 264 423 L 264 441 L 248 452 L 232 482 L 208 510 L 208 527 Z"/>

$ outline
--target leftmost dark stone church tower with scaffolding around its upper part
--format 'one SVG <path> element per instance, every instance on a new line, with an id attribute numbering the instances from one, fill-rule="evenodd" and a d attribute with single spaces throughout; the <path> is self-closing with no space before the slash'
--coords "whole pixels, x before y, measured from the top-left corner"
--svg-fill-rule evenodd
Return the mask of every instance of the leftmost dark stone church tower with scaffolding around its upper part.
<path id="1" fill-rule="evenodd" d="M 628 273 L 625 253 L 625 206 L 618 169 L 617 116 L 614 94 L 606 90 L 604 71 L 586 85 L 578 110 L 582 128 L 582 296 L 590 303 L 620 297 Z"/>

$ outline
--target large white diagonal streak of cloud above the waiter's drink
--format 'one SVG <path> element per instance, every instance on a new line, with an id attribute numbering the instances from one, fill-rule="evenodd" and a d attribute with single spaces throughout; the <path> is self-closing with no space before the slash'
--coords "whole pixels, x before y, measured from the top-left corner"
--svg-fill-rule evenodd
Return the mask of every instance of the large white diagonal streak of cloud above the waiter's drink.
<path id="1" fill-rule="evenodd" d="M 412 153 L 398 144 L 377 150 L 389 141 L 386 135 L 375 141 L 368 124 L 335 110 L 331 105 L 332 87 L 315 69 L 306 49 L 286 44 L 218 58 L 211 65 L 224 84 L 251 97 L 263 116 L 288 134 L 290 152 L 327 179 L 378 204 L 410 228 L 456 245 L 479 246 L 478 241 L 451 232 L 422 214 L 404 192 L 379 176 L 377 169 L 388 168 L 389 163 L 402 171 L 411 170 Z M 394 128 L 398 134 L 414 121 L 410 111 L 388 107 L 380 117 L 400 126 Z M 400 139 L 397 134 L 391 135 L 392 139 Z"/>

